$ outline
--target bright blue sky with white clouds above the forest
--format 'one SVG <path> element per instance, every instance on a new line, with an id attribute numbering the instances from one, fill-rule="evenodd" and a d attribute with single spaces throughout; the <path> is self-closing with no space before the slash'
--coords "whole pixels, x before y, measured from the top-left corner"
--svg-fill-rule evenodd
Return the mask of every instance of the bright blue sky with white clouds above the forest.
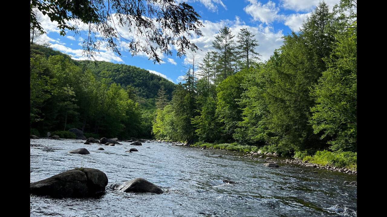
<path id="1" fill-rule="evenodd" d="M 183 2 L 183 0 L 175 1 Z M 204 36 L 193 36 L 191 39 L 202 49 L 197 51 L 197 58 L 203 58 L 208 51 L 215 51 L 212 41 L 219 29 L 227 25 L 235 35 L 234 41 L 237 40 L 236 36 L 242 28 L 253 32 L 259 43 L 256 51 L 261 54 L 261 61 L 265 61 L 282 45 L 282 36 L 289 34 L 292 29 L 298 31 L 303 19 L 310 15 L 319 0 L 185 0 L 185 2 L 194 7 L 204 24 L 204 27 L 200 28 Z M 325 2 L 332 10 L 339 0 L 325 0 Z M 41 24 L 47 34 L 39 38 L 40 42 L 49 42 L 53 49 L 66 53 L 73 59 L 86 59 L 82 56 L 82 42 L 87 37 L 86 31 L 80 31 L 80 35 L 67 31 L 66 36 L 60 36 L 57 23 L 52 23 L 43 15 L 41 15 Z M 125 32 L 125 29 L 122 28 L 122 31 Z M 184 66 L 188 64 L 188 57 L 177 57 L 173 46 L 173 56 L 161 54 L 163 59 L 161 64 L 154 64 L 152 60 L 148 60 L 146 54 L 140 53 L 132 57 L 131 53 L 123 48 L 119 49 L 122 56 L 101 46 L 96 59 L 144 68 L 174 83 L 178 83 L 187 70 Z"/>

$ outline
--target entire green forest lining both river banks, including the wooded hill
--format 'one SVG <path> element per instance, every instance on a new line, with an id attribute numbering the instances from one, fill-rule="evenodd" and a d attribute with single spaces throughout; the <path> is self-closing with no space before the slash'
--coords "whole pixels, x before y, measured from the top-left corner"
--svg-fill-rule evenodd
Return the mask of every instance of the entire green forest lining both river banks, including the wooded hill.
<path id="1" fill-rule="evenodd" d="M 248 29 L 235 36 L 224 26 L 212 41 L 216 51 L 188 56 L 192 65 L 178 85 L 31 43 L 31 134 L 78 128 L 86 137 L 356 158 L 356 16 L 351 1 L 332 12 L 320 2 L 264 62 Z"/>

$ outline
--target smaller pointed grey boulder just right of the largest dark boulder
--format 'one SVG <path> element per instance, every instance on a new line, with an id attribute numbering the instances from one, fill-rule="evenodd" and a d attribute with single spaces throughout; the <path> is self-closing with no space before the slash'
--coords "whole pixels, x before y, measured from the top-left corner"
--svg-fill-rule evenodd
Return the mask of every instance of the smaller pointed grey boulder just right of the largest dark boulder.
<path id="1" fill-rule="evenodd" d="M 164 193 L 161 188 L 143 178 L 136 178 L 124 183 L 115 183 L 111 186 L 113 190 L 119 190 L 123 192 L 151 192 L 156 194 Z"/>

